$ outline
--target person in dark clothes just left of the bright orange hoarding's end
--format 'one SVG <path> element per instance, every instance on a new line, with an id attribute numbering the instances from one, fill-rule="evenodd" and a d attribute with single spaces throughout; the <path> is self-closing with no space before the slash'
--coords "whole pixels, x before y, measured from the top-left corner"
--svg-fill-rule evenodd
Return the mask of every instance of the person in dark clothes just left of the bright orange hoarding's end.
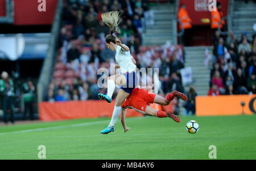
<path id="1" fill-rule="evenodd" d="M 190 111 L 192 112 L 192 114 L 196 113 L 196 96 L 197 96 L 197 93 L 196 93 L 195 87 L 190 86 L 187 93 L 188 100 L 184 106 L 186 109 L 185 116 L 189 114 Z"/>

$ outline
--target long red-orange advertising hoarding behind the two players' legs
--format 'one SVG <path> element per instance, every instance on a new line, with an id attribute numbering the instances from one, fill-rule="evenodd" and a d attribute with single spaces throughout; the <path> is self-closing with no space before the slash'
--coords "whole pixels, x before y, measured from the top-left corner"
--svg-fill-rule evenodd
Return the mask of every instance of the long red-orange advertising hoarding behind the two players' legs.
<path id="1" fill-rule="evenodd" d="M 164 106 L 163 110 L 172 110 L 172 103 Z M 152 104 L 152 108 L 159 109 L 162 106 Z M 40 102 L 39 118 L 42 121 L 58 121 L 76 118 L 112 117 L 114 101 L 109 104 L 105 100 L 86 101 L 62 101 Z M 141 117 L 143 114 L 133 109 L 127 109 L 126 117 Z"/>

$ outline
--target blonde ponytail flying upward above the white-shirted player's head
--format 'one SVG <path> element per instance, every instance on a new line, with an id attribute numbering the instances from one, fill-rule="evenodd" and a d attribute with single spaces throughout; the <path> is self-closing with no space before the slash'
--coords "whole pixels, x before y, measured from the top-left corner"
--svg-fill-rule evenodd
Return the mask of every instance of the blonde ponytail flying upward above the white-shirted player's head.
<path id="1" fill-rule="evenodd" d="M 118 11 L 104 12 L 101 14 L 102 22 L 108 25 L 111 35 L 113 33 L 120 33 L 120 29 L 118 27 L 120 15 Z"/>

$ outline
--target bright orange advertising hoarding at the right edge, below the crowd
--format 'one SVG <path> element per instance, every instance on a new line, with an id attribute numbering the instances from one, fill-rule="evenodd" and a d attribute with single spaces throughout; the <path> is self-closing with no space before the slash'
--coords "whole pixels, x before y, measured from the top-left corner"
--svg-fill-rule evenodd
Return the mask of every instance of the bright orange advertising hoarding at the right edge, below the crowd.
<path id="1" fill-rule="evenodd" d="M 256 95 L 197 96 L 197 116 L 227 116 L 256 113 Z M 241 103 L 245 105 L 242 106 Z"/>

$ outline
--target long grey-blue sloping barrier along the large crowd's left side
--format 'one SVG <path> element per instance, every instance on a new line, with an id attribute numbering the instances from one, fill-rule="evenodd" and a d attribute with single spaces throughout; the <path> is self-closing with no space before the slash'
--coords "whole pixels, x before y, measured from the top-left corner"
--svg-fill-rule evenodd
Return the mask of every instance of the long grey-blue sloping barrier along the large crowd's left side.
<path id="1" fill-rule="evenodd" d="M 51 29 L 52 36 L 51 40 L 49 41 L 49 48 L 47 51 L 46 58 L 44 59 L 43 67 L 40 72 L 40 77 L 37 84 L 38 102 L 41 102 L 46 99 L 49 82 L 52 78 L 52 72 L 56 61 L 57 36 L 60 30 L 62 10 L 63 0 L 59 0 L 56 7 L 55 18 L 53 20 L 53 25 Z"/>

